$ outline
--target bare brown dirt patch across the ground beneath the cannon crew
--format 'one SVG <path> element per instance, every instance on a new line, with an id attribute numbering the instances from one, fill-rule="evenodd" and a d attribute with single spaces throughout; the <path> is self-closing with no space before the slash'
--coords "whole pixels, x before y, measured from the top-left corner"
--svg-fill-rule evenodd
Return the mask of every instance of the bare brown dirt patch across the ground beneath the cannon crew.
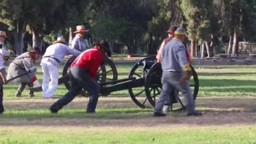
<path id="1" fill-rule="evenodd" d="M 48 108 L 56 99 L 16 99 L 6 100 L 5 109 Z M 83 108 L 87 98 L 76 98 L 67 108 Z M 100 98 L 98 108 L 136 107 L 129 97 Z M 0 120 L 0 125 L 38 125 L 38 126 L 83 126 L 83 127 L 155 127 L 173 125 L 248 125 L 256 124 L 256 98 L 243 97 L 204 97 L 197 98 L 196 107 L 203 111 L 202 117 L 187 117 L 186 112 L 170 112 L 167 117 L 152 117 L 153 109 L 136 112 L 110 113 L 109 115 L 82 114 L 79 117 L 36 117 Z M 139 112 L 139 110 L 138 110 Z M 58 114 L 57 114 L 58 115 Z"/>

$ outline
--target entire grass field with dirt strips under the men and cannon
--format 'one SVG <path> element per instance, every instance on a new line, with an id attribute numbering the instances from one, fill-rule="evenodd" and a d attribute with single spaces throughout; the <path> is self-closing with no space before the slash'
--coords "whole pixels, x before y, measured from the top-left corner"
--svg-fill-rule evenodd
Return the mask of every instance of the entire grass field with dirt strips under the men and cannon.
<path id="1" fill-rule="evenodd" d="M 127 78 L 133 64 L 117 63 L 118 79 Z M 48 107 L 67 92 L 64 85 L 54 99 L 42 99 L 40 92 L 29 98 L 28 91 L 16 98 L 18 84 L 4 85 L 0 144 L 256 144 L 256 66 L 194 67 L 200 80 L 196 107 L 203 117 L 187 117 L 186 112 L 152 117 L 153 109 L 137 107 L 127 90 L 100 97 L 95 114 L 85 113 L 84 97 L 51 114 Z"/>

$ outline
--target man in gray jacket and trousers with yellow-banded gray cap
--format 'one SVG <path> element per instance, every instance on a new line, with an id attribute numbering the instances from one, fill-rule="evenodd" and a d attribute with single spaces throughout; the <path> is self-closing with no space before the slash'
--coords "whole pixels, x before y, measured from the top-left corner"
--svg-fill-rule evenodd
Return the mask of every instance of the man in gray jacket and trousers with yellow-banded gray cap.
<path id="1" fill-rule="evenodd" d="M 183 28 L 177 28 L 173 39 L 165 45 L 161 54 L 161 66 L 163 69 L 162 84 L 163 90 L 157 99 L 154 116 L 166 116 L 162 112 L 166 98 L 171 93 L 171 88 L 182 92 L 186 99 L 187 115 L 198 116 L 201 112 L 195 110 L 195 100 L 189 87 L 189 77 L 192 74 L 189 62 L 187 61 L 186 48 L 182 43 L 186 37 Z"/>

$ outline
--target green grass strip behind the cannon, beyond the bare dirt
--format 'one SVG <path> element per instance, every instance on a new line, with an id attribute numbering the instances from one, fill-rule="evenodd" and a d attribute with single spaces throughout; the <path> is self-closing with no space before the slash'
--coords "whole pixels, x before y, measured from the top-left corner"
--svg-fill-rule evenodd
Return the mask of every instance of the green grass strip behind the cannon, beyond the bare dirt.
<path id="1" fill-rule="evenodd" d="M 134 62 L 116 63 L 118 79 L 127 78 Z M 42 70 L 37 64 L 37 77 L 42 82 Z M 63 65 L 62 65 L 63 66 Z M 60 68 L 60 77 L 62 73 Z M 200 88 L 198 96 L 256 96 L 256 66 L 244 65 L 194 65 Z M 198 69 L 198 68 L 203 69 Z M 221 67 L 221 69 L 214 69 Z M 18 88 L 17 83 L 4 85 L 5 98 L 13 98 Z M 135 92 L 139 92 L 144 88 L 136 88 Z M 55 97 L 60 97 L 67 92 L 64 85 L 59 85 Z M 27 95 L 28 91 L 24 91 L 23 95 Z M 40 92 L 35 93 L 37 97 L 41 97 Z M 128 96 L 128 90 L 112 92 L 114 96 Z M 141 94 L 142 96 L 145 93 Z"/>

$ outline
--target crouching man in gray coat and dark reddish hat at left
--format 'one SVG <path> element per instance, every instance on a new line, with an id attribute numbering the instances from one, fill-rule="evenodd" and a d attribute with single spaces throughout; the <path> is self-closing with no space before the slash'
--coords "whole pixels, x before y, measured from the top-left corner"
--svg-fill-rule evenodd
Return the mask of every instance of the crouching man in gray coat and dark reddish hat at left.
<path id="1" fill-rule="evenodd" d="M 39 58 L 39 56 L 40 49 L 37 47 L 31 49 L 29 52 L 22 53 L 21 55 L 17 56 L 8 67 L 7 79 L 11 79 L 18 75 L 21 75 L 29 68 L 34 67 L 34 63 Z M 35 84 L 35 86 L 40 85 L 35 73 L 28 73 L 27 75 L 18 77 L 15 80 L 12 80 L 11 82 L 21 83 L 17 90 L 16 97 L 21 97 L 21 93 L 26 87 L 26 85 L 28 85 L 29 87 L 33 87 L 33 84 Z M 29 91 L 29 96 L 33 97 L 34 92 Z"/>

